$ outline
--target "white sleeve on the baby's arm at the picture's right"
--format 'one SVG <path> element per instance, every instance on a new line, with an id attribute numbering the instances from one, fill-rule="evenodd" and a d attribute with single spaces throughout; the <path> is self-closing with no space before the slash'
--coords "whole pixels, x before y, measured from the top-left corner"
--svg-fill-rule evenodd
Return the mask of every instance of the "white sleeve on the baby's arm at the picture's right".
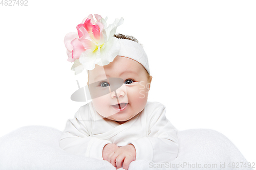
<path id="1" fill-rule="evenodd" d="M 153 162 L 173 161 L 179 150 L 177 129 L 165 117 L 165 106 L 158 107 L 147 117 L 148 137 L 131 141 L 136 150 L 136 160 Z"/>

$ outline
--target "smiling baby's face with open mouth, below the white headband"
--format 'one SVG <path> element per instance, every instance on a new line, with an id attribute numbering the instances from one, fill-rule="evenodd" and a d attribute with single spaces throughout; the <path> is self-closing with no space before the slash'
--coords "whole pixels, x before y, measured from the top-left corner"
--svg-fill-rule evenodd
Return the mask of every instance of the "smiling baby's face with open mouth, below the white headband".
<path id="1" fill-rule="evenodd" d="M 108 81 L 103 81 L 107 78 L 121 78 L 123 79 L 123 84 L 111 92 L 110 87 L 113 86 L 111 86 L 109 79 Z M 95 82 L 99 83 L 96 83 L 95 86 L 90 86 Z M 100 92 L 106 90 L 110 92 L 92 99 L 92 103 L 101 116 L 120 124 L 133 118 L 144 109 L 150 89 L 145 68 L 137 61 L 121 56 L 117 56 L 113 62 L 105 66 L 96 64 L 95 68 L 89 71 L 88 83 L 90 93 L 92 91 Z"/>

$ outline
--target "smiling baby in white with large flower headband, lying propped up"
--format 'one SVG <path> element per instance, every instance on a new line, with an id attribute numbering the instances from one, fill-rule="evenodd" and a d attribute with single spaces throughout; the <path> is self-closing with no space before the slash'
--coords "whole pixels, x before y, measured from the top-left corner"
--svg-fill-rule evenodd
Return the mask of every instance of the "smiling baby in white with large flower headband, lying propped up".
<path id="1" fill-rule="evenodd" d="M 106 26 L 95 14 L 65 37 L 68 61 L 88 73 L 92 101 L 69 119 L 59 145 L 67 152 L 107 160 L 128 169 L 135 160 L 170 162 L 178 155 L 176 128 L 165 106 L 147 102 L 152 76 L 137 39 L 115 34 L 123 19 Z"/>

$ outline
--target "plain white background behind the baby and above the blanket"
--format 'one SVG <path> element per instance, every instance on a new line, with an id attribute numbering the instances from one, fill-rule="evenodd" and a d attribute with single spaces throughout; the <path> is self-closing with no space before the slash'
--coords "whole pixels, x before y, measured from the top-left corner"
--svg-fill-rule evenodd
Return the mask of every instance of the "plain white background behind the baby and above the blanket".
<path id="1" fill-rule="evenodd" d="M 152 3 L 151 3 L 152 2 Z M 148 55 L 148 101 L 167 107 L 178 130 L 213 129 L 256 162 L 255 1 L 31 1 L 0 6 L 0 136 L 42 125 L 63 130 L 86 103 L 63 38 L 89 14 L 124 18 Z"/>

